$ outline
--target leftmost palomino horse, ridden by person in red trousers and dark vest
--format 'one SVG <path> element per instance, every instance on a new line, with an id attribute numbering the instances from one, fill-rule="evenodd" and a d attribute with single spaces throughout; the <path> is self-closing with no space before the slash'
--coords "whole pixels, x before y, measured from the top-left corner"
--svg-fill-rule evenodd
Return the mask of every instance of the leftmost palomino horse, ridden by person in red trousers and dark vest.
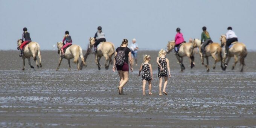
<path id="1" fill-rule="evenodd" d="M 22 40 L 19 39 L 17 41 L 18 43 L 18 50 L 20 50 L 20 45 L 22 43 Z M 27 44 L 27 46 L 25 46 L 24 48 L 24 56 L 22 56 L 22 59 L 23 59 L 23 69 L 22 70 L 25 70 L 25 59 L 27 58 L 27 60 L 29 61 L 29 66 L 34 69 L 33 66 L 31 66 L 31 63 L 30 63 L 30 57 L 32 56 L 34 61 L 36 61 L 37 63 L 37 67 L 42 67 L 42 64 L 41 64 L 41 54 L 40 54 L 40 46 L 37 42 L 30 42 L 29 44 Z M 39 58 L 39 65 L 38 65 L 38 62 L 37 62 L 37 56 Z"/>

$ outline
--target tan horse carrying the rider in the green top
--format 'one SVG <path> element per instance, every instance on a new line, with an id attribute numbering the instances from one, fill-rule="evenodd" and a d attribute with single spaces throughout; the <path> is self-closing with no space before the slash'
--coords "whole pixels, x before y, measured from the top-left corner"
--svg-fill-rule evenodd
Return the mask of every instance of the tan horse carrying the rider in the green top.
<path id="1" fill-rule="evenodd" d="M 221 46 L 219 45 L 219 43 L 210 43 L 205 47 L 205 53 L 206 56 L 203 57 L 202 52 L 201 52 L 201 40 L 199 39 L 194 39 L 192 41 L 192 44 L 194 47 L 198 47 L 199 48 L 199 53 L 201 56 L 201 63 L 204 65 L 204 58 L 206 58 L 206 64 L 204 65 L 206 67 L 207 72 L 210 71 L 209 68 L 209 56 L 212 56 L 212 58 L 214 59 L 214 64 L 213 64 L 213 69 L 216 68 L 216 63 L 221 61 L 221 69 L 223 70 L 223 66 L 222 66 L 222 49 Z"/>

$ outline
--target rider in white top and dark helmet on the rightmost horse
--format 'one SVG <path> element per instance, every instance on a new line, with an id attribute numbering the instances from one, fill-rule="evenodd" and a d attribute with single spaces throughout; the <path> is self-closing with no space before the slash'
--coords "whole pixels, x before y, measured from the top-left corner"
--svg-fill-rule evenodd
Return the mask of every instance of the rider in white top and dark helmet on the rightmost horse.
<path id="1" fill-rule="evenodd" d="M 228 54 L 229 51 L 229 46 L 233 43 L 238 41 L 237 36 L 235 34 L 235 32 L 232 30 L 232 27 L 228 27 L 227 28 L 227 33 L 226 33 L 226 55 Z"/>

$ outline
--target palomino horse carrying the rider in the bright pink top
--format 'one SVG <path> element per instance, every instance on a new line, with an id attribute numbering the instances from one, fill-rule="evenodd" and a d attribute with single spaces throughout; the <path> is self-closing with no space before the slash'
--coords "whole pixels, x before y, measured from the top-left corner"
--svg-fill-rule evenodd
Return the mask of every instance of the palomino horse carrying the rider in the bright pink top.
<path id="1" fill-rule="evenodd" d="M 170 53 L 173 49 L 174 49 L 174 46 L 175 46 L 175 41 L 169 41 L 168 44 L 167 44 L 167 53 Z M 181 44 L 180 46 L 180 50 L 178 51 L 178 54 L 176 55 L 177 59 L 178 59 L 178 62 L 180 63 L 180 68 L 181 68 L 181 71 L 183 71 L 185 69 L 184 65 L 183 65 L 183 57 L 184 56 L 187 56 L 190 58 L 190 67 L 191 69 L 193 67 L 195 67 L 195 63 L 194 63 L 194 47 L 193 47 L 193 44 L 192 43 L 183 43 Z"/>

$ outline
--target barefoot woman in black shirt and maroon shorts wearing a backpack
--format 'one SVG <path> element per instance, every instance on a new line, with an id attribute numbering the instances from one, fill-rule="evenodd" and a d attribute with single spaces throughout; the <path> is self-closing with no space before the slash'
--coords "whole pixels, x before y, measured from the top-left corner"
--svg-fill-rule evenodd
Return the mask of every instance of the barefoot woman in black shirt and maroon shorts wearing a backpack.
<path id="1" fill-rule="evenodd" d="M 131 72 L 133 72 L 131 49 L 128 47 L 128 40 L 123 39 L 120 47 L 116 48 L 115 59 L 113 63 L 113 72 L 117 69 L 120 77 L 119 86 L 117 87 L 118 93 L 123 94 L 123 86 L 127 83 L 129 77 L 129 65 L 131 66 Z"/>

